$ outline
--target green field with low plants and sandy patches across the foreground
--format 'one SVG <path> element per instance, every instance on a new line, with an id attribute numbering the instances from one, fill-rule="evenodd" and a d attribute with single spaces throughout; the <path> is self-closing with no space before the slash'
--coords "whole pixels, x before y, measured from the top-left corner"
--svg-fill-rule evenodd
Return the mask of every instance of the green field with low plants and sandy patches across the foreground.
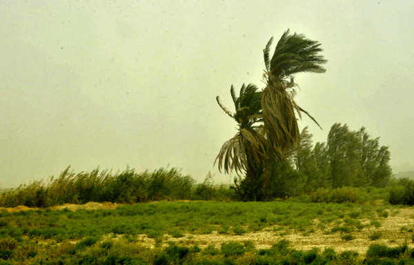
<path id="1" fill-rule="evenodd" d="M 413 229 L 411 208 L 376 204 L 3 208 L 0 264 L 414 264 Z"/>

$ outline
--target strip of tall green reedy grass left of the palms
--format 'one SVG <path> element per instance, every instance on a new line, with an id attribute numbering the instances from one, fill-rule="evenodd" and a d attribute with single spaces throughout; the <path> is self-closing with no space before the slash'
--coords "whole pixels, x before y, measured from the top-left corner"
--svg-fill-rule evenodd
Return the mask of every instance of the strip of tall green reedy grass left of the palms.
<path id="1" fill-rule="evenodd" d="M 132 204 L 155 200 L 217 199 L 233 197 L 228 185 L 217 185 L 210 173 L 197 184 L 177 168 L 159 168 L 150 173 L 137 173 L 127 168 L 112 173 L 96 168 L 91 172 L 74 173 L 70 166 L 59 177 L 48 181 L 32 181 L 0 195 L 0 206 L 48 207 L 86 202 L 117 202 Z"/>

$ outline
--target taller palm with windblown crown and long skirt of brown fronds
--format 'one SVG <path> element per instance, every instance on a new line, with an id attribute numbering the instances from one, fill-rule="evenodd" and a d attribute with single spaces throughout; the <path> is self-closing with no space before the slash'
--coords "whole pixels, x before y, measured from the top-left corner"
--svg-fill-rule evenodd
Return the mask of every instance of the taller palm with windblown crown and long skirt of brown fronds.
<path id="1" fill-rule="evenodd" d="M 273 38 L 264 48 L 264 79 L 266 88 L 262 93 L 264 129 L 270 141 L 272 155 L 279 161 L 286 161 L 284 153 L 292 149 L 299 139 L 297 115 L 304 112 L 319 126 L 306 110 L 299 107 L 295 100 L 294 75 L 299 72 L 325 72 L 321 64 L 326 63 L 317 41 L 306 39 L 304 35 L 289 35 L 284 32 L 270 59 L 270 46 Z M 320 127 L 320 126 L 319 126 Z"/>

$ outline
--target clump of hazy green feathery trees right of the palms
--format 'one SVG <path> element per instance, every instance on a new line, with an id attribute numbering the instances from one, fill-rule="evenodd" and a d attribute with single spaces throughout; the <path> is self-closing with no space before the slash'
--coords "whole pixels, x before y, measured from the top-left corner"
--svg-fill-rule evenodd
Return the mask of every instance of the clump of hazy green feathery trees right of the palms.
<path id="1" fill-rule="evenodd" d="M 350 130 L 333 124 L 326 142 L 313 146 L 305 127 L 290 157 L 293 167 L 306 177 L 305 189 L 375 186 L 382 188 L 391 179 L 388 146 L 372 138 L 366 128 Z"/>

